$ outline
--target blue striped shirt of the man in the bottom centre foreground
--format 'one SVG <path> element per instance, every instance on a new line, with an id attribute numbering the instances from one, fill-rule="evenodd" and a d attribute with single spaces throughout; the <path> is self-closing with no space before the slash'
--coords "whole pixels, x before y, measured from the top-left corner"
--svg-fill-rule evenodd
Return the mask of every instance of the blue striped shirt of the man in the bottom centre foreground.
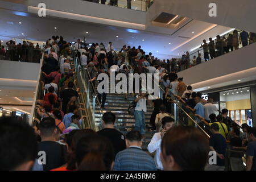
<path id="1" fill-rule="evenodd" d="M 114 171 L 156 171 L 154 159 L 141 147 L 130 146 L 115 156 Z"/>

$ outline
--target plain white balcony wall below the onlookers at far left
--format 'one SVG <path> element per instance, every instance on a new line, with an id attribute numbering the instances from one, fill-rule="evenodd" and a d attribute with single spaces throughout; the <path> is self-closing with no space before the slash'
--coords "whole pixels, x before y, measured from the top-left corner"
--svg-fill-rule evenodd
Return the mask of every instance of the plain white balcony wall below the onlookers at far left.
<path id="1" fill-rule="evenodd" d="M 38 80 L 39 63 L 0 60 L 0 78 Z"/>

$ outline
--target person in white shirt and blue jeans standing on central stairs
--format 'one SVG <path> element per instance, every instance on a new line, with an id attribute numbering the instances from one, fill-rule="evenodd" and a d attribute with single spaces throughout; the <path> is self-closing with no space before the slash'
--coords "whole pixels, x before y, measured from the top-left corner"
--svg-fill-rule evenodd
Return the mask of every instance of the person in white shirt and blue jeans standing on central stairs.
<path id="1" fill-rule="evenodd" d="M 145 88 L 141 89 L 141 93 L 139 96 L 136 97 L 135 102 L 137 102 L 136 107 L 134 109 L 134 118 L 135 118 L 135 131 L 139 131 L 142 138 L 145 139 L 146 134 L 146 123 L 145 123 L 145 115 L 144 113 L 147 112 L 147 98 L 146 98 L 146 92 L 147 90 Z"/>

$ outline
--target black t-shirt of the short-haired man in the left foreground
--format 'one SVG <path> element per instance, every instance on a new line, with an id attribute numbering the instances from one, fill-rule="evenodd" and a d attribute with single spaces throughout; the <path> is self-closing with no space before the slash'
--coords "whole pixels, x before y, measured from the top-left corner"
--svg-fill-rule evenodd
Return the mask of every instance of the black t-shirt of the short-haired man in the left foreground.
<path id="1" fill-rule="evenodd" d="M 43 164 L 44 171 L 63 166 L 65 162 L 65 155 L 67 154 L 67 146 L 53 141 L 44 141 L 38 144 L 38 152 L 46 152 L 46 164 Z M 42 155 L 40 155 L 42 156 Z M 40 158 L 38 156 L 38 158 Z"/>

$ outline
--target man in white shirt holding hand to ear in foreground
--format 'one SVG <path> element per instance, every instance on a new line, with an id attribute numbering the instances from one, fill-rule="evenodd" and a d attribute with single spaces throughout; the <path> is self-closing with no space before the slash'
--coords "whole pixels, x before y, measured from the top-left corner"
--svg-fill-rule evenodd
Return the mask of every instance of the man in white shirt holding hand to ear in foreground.
<path id="1" fill-rule="evenodd" d="M 164 117 L 162 119 L 163 130 L 159 133 L 155 133 L 150 143 L 147 146 L 147 150 L 151 154 L 156 151 L 154 159 L 155 159 L 156 168 L 158 168 L 159 170 L 163 170 L 163 164 L 160 160 L 161 142 L 164 137 L 164 134 L 166 134 L 166 132 L 170 130 L 171 127 L 173 126 L 174 126 L 174 119 L 172 117 Z"/>

